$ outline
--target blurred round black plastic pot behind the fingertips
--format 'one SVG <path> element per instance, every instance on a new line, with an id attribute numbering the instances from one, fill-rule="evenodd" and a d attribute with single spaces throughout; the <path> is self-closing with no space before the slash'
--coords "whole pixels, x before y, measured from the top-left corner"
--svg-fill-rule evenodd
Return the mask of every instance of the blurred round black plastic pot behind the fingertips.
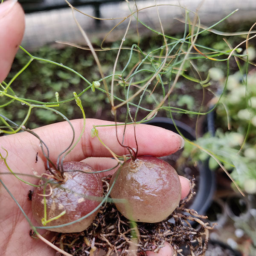
<path id="1" fill-rule="evenodd" d="M 177 132 L 175 125 L 183 136 L 189 140 L 195 140 L 195 131 L 183 122 L 176 121 L 175 125 L 172 119 L 166 117 L 155 117 L 147 122 L 149 125 L 159 126 L 170 131 Z M 208 161 L 198 163 L 199 175 L 196 180 L 197 191 L 189 208 L 195 209 L 199 214 L 205 214 L 212 203 L 212 196 L 215 192 L 215 175 L 208 168 Z"/>

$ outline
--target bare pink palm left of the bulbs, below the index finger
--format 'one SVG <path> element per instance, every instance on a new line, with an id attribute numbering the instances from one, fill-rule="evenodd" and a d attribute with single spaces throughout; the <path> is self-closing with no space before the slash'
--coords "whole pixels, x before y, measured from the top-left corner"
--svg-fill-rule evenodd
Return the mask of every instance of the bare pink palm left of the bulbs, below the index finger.
<path id="1" fill-rule="evenodd" d="M 19 169 L 29 170 L 31 166 L 23 163 L 19 165 Z M 44 163 L 39 163 L 38 169 L 35 170 L 39 171 L 41 169 L 44 169 Z M 32 219 L 31 201 L 28 200 L 29 186 L 17 180 L 13 175 L 1 175 L 1 179 L 4 184 L 12 184 L 8 186 L 8 189 L 20 204 L 20 207 L 26 212 L 27 217 Z M 10 179 L 11 181 L 9 181 Z M 29 236 L 30 227 L 28 221 L 3 186 L 0 187 L 0 199 L 0 215 L 2 219 L 0 222 L 0 240 L 2 243 L 0 248 L 2 255 L 55 255 L 54 250 L 47 247 L 40 239 L 32 239 Z"/>

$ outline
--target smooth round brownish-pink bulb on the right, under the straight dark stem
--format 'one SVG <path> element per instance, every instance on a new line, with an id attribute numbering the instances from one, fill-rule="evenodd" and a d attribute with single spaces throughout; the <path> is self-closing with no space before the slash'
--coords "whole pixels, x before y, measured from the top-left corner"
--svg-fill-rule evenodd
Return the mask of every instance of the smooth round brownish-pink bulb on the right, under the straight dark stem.
<path id="1" fill-rule="evenodd" d="M 113 184 L 117 172 L 112 176 Z M 166 219 L 178 206 L 181 197 L 180 179 L 175 169 L 164 160 L 143 156 L 123 164 L 111 198 L 126 218 L 155 223 Z"/>

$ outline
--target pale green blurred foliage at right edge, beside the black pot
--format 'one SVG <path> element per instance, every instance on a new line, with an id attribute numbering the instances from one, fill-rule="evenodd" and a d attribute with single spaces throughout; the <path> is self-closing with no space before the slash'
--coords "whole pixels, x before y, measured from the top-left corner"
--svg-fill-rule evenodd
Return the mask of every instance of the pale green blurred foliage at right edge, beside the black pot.
<path id="1" fill-rule="evenodd" d="M 220 79 L 221 86 L 224 87 L 223 79 Z M 245 192 L 256 193 L 255 70 L 248 75 L 239 70 L 228 77 L 227 90 L 215 109 L 215 116 L 215 137 L 207 133 L 196 143 L 217 157 Z M 193 160 L 209 158 L 209 154 L 189 143 L 183 154 L 191 155 Z M 212 170 L 219 167 L 212 157 L 209 167 Z"/>

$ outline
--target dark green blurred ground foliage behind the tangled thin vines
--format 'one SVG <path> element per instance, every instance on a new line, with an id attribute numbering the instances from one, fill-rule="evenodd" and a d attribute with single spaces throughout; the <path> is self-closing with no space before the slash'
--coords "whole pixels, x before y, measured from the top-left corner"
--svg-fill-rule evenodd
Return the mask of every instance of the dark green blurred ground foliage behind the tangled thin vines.
<path id="1" fill-rule="evenodd" d="M 125 41 L 125 44 L 128 46 L 131 45 L 132 42 L 128 39 Z M 163 44 L 163 40 L 159 39 L 158 36 L 142 38 L 140 41 L 140 47 L 145 52 L 159 47 L 160 44 Z M 106 76 L 113 72 L 113 63 L 116 58 L 119 42 L 115 42 L 109 45 L 109 47 L 116 49 L 97 52 L 98 58 L 101 61 L 103 73 Z M 122 54 L 119 55 L 117 62 L 116 73 L 120 73 L 121 70 L 123 70 L 130 57 L 130 53 L 131 52 L 129 49 L 122 50 Z M 41 47 L 35 52 L 31 52 L 31 54 L 66 65 L 67 67 L 76 70 L 91 83 L 100 79 L 96 62 L 88 50 L 77 49 L 75 47 L 56 49 L 45 46 Z M 132 67 L 134 67 L 141 58 L 143 58 L 141 54 L 138 52 L 133 52 L 128 68 L 123 75 L 127 76 Z M 26 65 L 28 61 L 29 56 L 26 55 L 26 53 L 24 53 L 22 50 L 19 50 L 15 57 L 12 70 L 9 73 L 6 81 L 8 82 L 10 79 L 12 79 L 18 70 Z M 151 69 L 151 66 L 145 63 L 143 68 Z M 148 75 L 150 75 L 150 73 L 148 73 Z M 163 77 L 164 76 L 166 76 L 166 74 L 163 74 Z M 143 81 L 145 79 L 147 79 L 145 74 L 138 73 L 136 75 L 136 81 Z M 111 79 L 107 79 L 107 83 L 108 86 L 110 86 Z M 120 81 L 119 84 L 122 85 L 122 82 Z M 61 69 L 61 67 L 57 65 L 35 60 L 32 61 L 29 67 L 27 67 L 26 70 L 19 76 L 17 76 L 15 81 L 12 83 L 12 89 L 19 97 L 38 100 L 41 102 L 54 102 L 55 92 L 58 92 L 59 94 L 59 101 L 70 99 L 73 97 L 73 91 L 79 93 L 87 88 L 87 86 L 88 84 L 79 76 L 76 76 L 76 74 L 69 72 L 68 70 Z M 120 86 L 119 91 L 116 91 L 116 96 L 123 97 L 124 91 L 122 86 Z M 130 95 L 132 95 L 133 90 L 133 88 L 130 89 Z M 143 107 L 153 109 L 157 103 L 163 99 L 163 90 L 168 91 L 169 85 L 165 84 L 164 88 L 160 86 L 156 87 L 151 95 L 151 91 L 149 90 L 146 93 L 147 96 L 143 102 Z M 174 107 L 181 107 L 187 110 L 199 110 L 201 105 L 201 96 L 201 85 L 181 78 L 174 92 L 169 97 L 169 100 L 172 102 Z M 110 111 L 111 107 L 105 93 L 87 90 L 86 93 L 81 95 L 81 100 L 87 117 L 113 120 L 113 116 L 111 115 Z M 22 106 L 20 103 L 15 102 L 14 104 L 8 105 L 4 109 L 1 108 L 0 113 L 19 124 L 22 117 L 24 117 L 26 114 L 26 109 L 26 106 Z M 65 104 L 61 104 L 57 109 L 69 119 L 81 118 L 81 112 L 79 108 L 76 107 L 76 103 L 74 101 L 65 102 Z M 124 120 L 126 110 L 122 108 L 118 111 L 120 119 Z M 133 111 L 132 107 L 131 111 Z M 166 112 L 159 111 L 158 114 L 166 115 Z M 178 117 L 180 116 L 179 114 L 177 115 Z M 140 116 L 138 119 L 140 119 Z M 26 126 L 28 128 L 36 128 L 41 125 L 47 125 L 52 122 L 62 120 L 62 117 L 55 113 L 48 113 L 47 111 L 43 110 L 32 110 Z"/>

